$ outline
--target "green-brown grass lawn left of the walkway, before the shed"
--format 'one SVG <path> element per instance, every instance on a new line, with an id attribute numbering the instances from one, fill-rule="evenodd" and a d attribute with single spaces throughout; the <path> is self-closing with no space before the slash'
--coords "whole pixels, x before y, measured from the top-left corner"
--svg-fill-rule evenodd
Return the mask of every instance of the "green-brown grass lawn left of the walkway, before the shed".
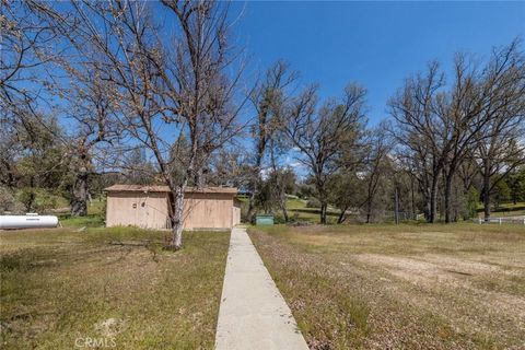
<path id="1" fill-rule="evenodd" d="M 0 348 L 212 348 L 230 234 L 188 232 L 172 253 L 165 232 L 73 229 L 100 220 L 0 232 Z"/>

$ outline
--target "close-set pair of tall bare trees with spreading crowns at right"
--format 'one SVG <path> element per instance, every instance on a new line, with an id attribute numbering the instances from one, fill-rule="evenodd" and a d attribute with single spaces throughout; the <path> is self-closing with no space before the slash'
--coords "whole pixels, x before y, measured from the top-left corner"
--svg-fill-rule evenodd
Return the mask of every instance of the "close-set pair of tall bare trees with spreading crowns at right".
<path id="1" fill-rule="evenodd" d="M 498 115 L 523 101 L 523 55 L 518 43 L 494 49 L 487 65 L 457 55 L 450 89 L 439 66 L 407 81 L 389 103 L 397 140 L 421 166 L 423 194 L 430 197 L 429 221 L 435 221 L 439 178 L 444 178 L 445 222 L 453 221 L 452 191 L 462 163 Z M 494 130 L 492 130 L 494 131 Z M 430 164 L 429 164 L 430 163 Z M 429 165 L 427 165 L 429 164 Z M 427 189 L 428 192 L 427 192 Z"/>

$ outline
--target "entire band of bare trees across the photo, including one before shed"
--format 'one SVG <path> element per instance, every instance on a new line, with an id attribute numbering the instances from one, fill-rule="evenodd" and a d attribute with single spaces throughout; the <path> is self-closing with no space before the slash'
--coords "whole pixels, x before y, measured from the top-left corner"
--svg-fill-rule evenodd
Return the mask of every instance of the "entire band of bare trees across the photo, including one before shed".
<path id="1" fill-rule="evenodd" d="M 520 40 L 487 59 L 457 55 L 452 69 L 429 63 L 370 128 L 357 83 L 322 101 L 285 61 L 252 82 L 226 2 L 1 11 L 1 210 L 38 209 L 52 192 L 85 215 L 106 184 L 163 184 L 178 249 L 188 186 L 240 187 L 247 221 L 260 210 L 291 220 L 291 194 L 315 199 L 320 223 L 334 212 L 339 223 L 355 212 L 372 222 L 394 207 L 453 222 L 478 200 L 486 218 L 494 200 L 525 200 Z"/>

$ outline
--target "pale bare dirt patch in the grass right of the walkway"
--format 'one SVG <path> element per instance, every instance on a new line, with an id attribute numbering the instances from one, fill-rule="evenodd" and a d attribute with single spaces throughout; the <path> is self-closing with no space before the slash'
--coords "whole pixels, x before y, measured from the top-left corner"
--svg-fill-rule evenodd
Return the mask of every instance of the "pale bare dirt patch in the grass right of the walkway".
<path id="1" fill-rule="evenodd" d="M 499 266 L 440 255 L 400 257 L 363 254 L 357 255 L 355 258 L 406 280 L 423 291 L 423 293 L 411 293 L 402 289 L 395 291 L 408 303 L 450 318 L 460 319 L 460 313 L 467 314 L 471 318 L 463 316 L 462 328 L 474 320 L 474 317 L 485 319 L 483 323 L 490 323 L 491 318 L 501 318 L 502 324 L 512 319 L 518 328 L 525 326 L 525 299 L 481 289 L 471 282 L 474 278 L 497 280 L 499 275 L 513 273 Z M 489 331 L 488 327 L 481 327 Z"/>

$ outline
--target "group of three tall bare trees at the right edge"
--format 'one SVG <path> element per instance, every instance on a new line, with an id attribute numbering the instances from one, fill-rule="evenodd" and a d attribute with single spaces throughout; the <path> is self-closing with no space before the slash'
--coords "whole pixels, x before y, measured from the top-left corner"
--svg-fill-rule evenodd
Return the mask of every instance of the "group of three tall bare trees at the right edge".
<path id="1" fill-rule="evenodd" d="M 457 220 L 454 183 L 466 164 L 471 163 L 475 171 L 464 178 L 463 191 L 468 192 L 468 179 L 477 170 L 483 177 L 487 218 L 493 187 L 523 164 L 524 63 L 517 40 L 494 49 L 482 63 L 457 55 L 450 81 L 440 65 L 432 62 L 425 72 L 409 78 L 390 100 L 392 133 L 398 153 L 413 165 L 429 222 L 436 220 L 440 184 L 445 222 Z"/>

